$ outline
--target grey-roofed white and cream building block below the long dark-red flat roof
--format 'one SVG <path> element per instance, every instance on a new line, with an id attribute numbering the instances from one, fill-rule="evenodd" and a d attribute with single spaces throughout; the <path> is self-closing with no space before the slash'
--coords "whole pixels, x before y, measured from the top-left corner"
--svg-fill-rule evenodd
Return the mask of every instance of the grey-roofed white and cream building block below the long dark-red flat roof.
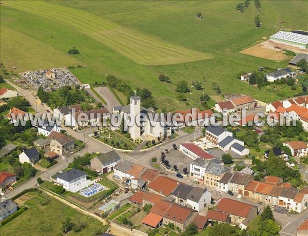
<path id="1" fill-rule="evenodd" d="M 211 188 L 219 188 L 219 181 L 225 172 L 230 172 L 227 167 L 205 159 L 196 159 L 189 164 L 190 176 L 201 180 Z"/>

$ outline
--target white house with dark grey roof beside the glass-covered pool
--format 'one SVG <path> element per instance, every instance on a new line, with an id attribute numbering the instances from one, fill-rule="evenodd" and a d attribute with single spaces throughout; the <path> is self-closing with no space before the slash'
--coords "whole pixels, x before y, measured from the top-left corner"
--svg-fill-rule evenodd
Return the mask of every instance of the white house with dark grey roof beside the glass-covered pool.
<path id="1" fill-rule="evenodd" d="M 87 180 L 87 173 L 79 169 L 70 169 L 56 175 L 56 182 L 63 185 L 68 191 L 77 192 L 92 184 Z"/>

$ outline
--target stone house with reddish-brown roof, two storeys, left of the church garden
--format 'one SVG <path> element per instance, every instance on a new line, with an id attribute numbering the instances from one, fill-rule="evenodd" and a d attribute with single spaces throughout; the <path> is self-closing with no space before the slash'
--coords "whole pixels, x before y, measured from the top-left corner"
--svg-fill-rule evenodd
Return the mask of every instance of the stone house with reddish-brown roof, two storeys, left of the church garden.
<path id="1" fill-rule="evenodd" d="M 50 150 L 60 155 L 69 155 L 75 147 L 74 140 L 62 133 L 51 131 L 48 135 L 50 139 Z"/>

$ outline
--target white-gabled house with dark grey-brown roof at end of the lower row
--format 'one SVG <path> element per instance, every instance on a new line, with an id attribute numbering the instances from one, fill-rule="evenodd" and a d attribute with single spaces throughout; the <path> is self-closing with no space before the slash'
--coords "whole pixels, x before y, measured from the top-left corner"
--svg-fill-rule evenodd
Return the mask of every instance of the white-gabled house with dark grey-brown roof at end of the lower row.
<path id="1" fill-rule="evenodd" d="M 187 195 L 186 204 L 192 209 L 201 211 L 210 205 L 211 193 L 206 189 L 195 187 Z"/>

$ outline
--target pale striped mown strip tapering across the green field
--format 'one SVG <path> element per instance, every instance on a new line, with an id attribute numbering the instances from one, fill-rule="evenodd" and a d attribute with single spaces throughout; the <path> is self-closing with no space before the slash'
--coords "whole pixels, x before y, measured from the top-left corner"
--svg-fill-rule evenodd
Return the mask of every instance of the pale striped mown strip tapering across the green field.
<path id="1" fill-rule="evenodd" d="M 143 65 L 178 64 L 213 57 L 120 26 L 79 9 L 41 1 L 8 1 L 4 5 L 65 24 Z"/>

